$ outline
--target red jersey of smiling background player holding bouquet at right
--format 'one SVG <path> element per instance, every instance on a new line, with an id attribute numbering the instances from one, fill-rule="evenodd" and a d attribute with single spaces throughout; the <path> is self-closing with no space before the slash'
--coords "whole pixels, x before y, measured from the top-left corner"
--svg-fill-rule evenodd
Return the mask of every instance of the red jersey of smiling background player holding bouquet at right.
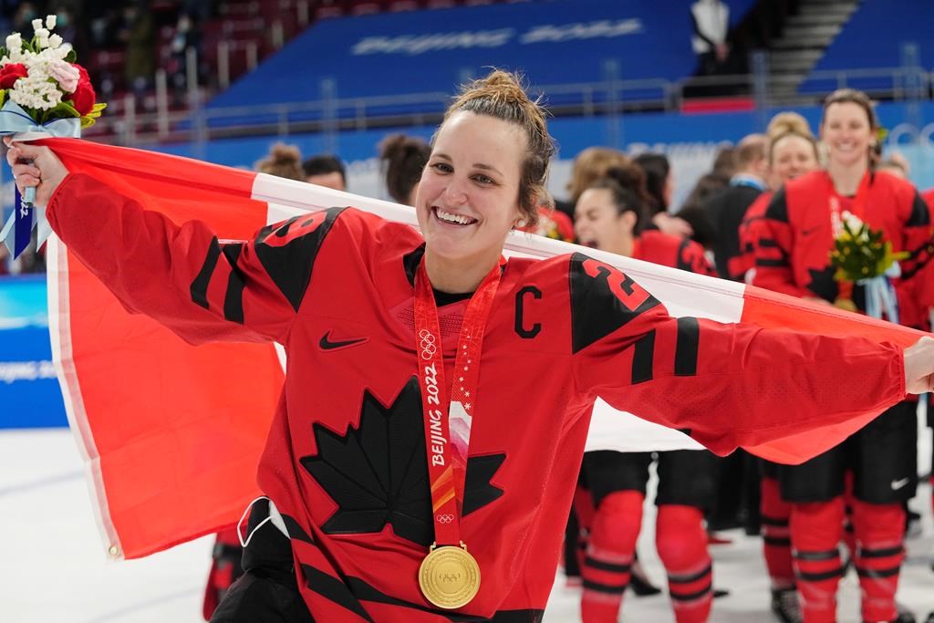
<path id="1" fill-rule="evenodd" d="M 895 251 L 909 251 L 899 262 L 902 277 L 895 280 L 901 324 L 924 327 L 927 308 L 934 304 L 929 287 L 934 252 L 931 247 L 931 217 L 914 187 L 899 177 L 870 175 L 870 191 L 862 219 L 873 229 L 882 229 Z M 771 199 L 764 230 L 756 248 L 753 285 L 791 294 L 816 296 L 833 302 L 838 284 L 830 264 L 833 233 L 830 223 L 832 183 L 825 171 L 815 171 L 791 180 Z M 842 200 L 845 207 L 846 199 Z M 854 301 L 862 308 L 862 289 L 856 287 Z"/>

